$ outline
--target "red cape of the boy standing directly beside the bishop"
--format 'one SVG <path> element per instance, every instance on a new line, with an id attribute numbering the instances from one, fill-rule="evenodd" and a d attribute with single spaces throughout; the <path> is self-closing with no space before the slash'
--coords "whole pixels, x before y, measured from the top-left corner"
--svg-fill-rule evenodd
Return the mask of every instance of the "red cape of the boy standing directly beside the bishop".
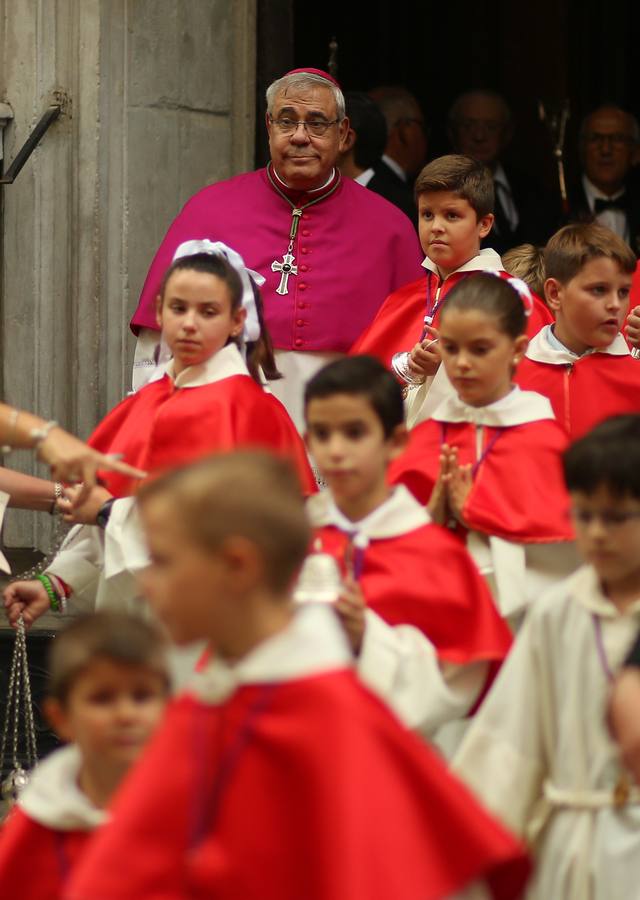
<path id="1" fill-rule="evenodd" d="M 351 353 L 369 353 L 378 357 L 387 367 L 395 353 L 411 350 L 421 339 L 426 313 L 427 291 L 430 296 L 445 298 L 449 291 L 470 275 L 478 275 L 479 271 L 455 272 L 446 281 L 434 272 L 427 272 L 426 277 L 405 284 L 404 287 L 389 294 L 375 319 L 358 338 Z M 510 278 L 506 272 L 498 273 L 501 278 Z M 533 310 L 527 318 L 527 334 L 533 337 L 544 325 L 553 322 L 553 316 L 543 301 L 533 295 Z M 442 302 L 442 301 L 441 301 Z M 436 311 L 433 327 L 438 328 L 442 305 Z"/>

